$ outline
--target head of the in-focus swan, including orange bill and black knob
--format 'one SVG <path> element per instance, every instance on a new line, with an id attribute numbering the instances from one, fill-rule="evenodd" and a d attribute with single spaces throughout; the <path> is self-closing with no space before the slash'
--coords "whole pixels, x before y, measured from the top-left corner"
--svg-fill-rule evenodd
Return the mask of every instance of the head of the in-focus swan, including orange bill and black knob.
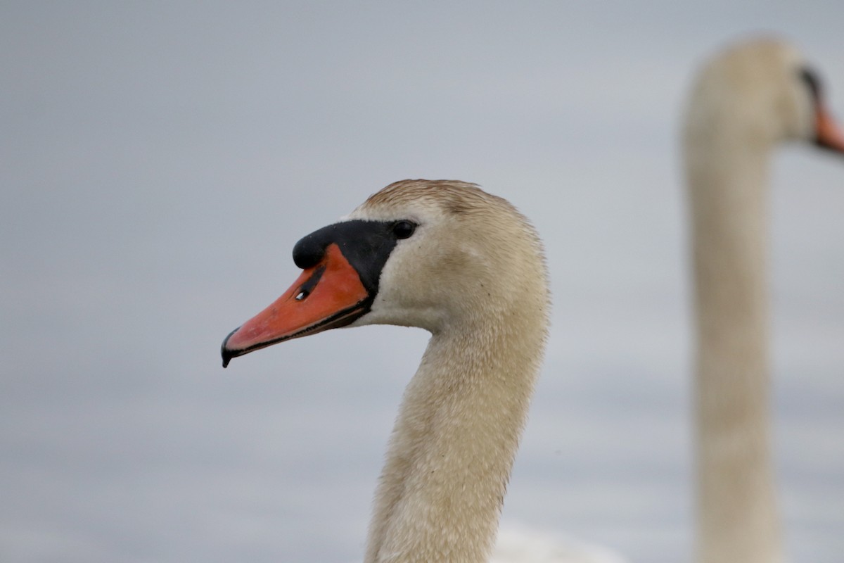
<path id="1" fill-rule="evenodd" d="M 301 239 L 293 258 L 299 279 L 225 338 L 224 367 L 329 328 L 392 324 L 439 333 L 513 313 L 547 322 L 547 274 L 533 227 L 506 200 L 466 182 L 395 182 Z"/>

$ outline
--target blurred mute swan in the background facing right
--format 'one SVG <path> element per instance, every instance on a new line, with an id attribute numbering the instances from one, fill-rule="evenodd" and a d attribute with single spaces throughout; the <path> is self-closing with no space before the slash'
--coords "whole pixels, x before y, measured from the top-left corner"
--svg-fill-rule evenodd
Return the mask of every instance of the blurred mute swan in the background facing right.
<path id="1" fill-rule="evenodd" d="M 706 63 L 687 106 L 700 563 L 783 560 L 768 450 L 766 176 L 784 141 L 844 153 L 821 94 L 793 47 L 763 39 Z"/>

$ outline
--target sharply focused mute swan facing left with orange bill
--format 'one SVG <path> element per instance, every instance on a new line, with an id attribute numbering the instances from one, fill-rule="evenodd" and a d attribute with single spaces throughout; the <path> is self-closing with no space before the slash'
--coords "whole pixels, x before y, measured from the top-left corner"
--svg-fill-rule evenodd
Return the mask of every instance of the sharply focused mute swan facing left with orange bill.
<path id="1" fill-rule="evenodd" d="M 365 561 L 488 560 L 548 333 L 535 230 L 473 184 L 399 181 L 307 235 L 293 258 L 305 271 L 225 338 L 224 367 L 328 328 L 430 331 L 392 431 Z"/>

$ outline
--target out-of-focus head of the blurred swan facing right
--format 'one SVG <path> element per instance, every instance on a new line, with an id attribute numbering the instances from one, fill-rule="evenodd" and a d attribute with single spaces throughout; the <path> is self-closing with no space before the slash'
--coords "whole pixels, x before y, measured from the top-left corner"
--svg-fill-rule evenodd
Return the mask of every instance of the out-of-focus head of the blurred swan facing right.
<path id="1" fill-rule="evenodd" d="M 805 141 L 844 154 L 844 134 L 825 106 L 820 75 L 793 46 L 772 38 L 728 47 L 704 64 L 685 133 L 690 140 L 727 136 L 762 149 Z"/>

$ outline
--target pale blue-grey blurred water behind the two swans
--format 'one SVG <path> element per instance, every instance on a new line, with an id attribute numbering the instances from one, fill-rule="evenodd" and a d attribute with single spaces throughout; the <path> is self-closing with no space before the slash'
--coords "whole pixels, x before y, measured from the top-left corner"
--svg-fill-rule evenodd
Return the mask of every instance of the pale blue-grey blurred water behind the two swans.
<path id="1" fill-rule="evenodd" d="M 0 560 L 360 560 L 426 333 L 219 343 L 302 235 L 475 181 L 548 247 L 554 332 L 506 525 L 690 559 L 679 111 L 792 38 L 844 116 L 844 3 L 0 3 Z M 772 169 L 776 458 L 793 560 L 844 553 L 844 160 Z"/>

